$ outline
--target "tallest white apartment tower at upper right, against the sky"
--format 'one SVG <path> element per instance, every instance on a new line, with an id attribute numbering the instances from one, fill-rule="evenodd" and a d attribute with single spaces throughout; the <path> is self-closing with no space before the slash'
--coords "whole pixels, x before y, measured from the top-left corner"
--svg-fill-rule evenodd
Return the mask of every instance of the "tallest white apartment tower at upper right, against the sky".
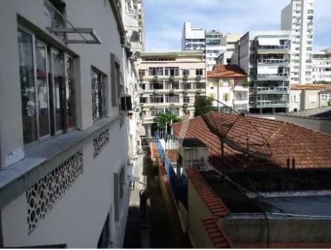
<path id="1" fill-rule="evenodd" d="M 281 30 L 290 30 L 290 83 L 312 83 L 314 0 L 292 0 L 282 10 Z"/>

